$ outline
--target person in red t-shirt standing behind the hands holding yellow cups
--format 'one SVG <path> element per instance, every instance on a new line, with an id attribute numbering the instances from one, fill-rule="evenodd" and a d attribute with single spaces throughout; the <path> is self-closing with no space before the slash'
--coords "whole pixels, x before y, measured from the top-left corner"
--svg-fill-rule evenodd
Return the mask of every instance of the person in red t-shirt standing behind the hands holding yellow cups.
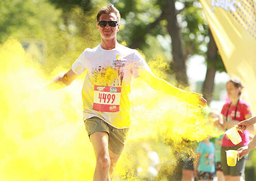
<path id="1" fill-rule="evenodd" d="M 228 130 L 242 122 L 245 119 L 251 117 L 250 107 L 247 102 L 242 100 L 241 94 L 243 86 L 238 79 L 231 79 L 226 84 L 227 94 L 230 98 L 230 101 L 223 105 L 221 114 L 223 117 L 223 128 Z M 250 133 L 249 130 L 244 132 L 239 132 L 242 142 L 234 145 L 231 140 L 224 135 L 221 143 L 221 167 L 225 177 L 225 180 L 229 181 L 240 181 L 243 180 L 244 171 L 245 171 L 245 162 L 247 157 L 240 159 L 235 167 L 229 167 L 227 164 L 226 150 L 237 150 L 240 147 L 247 146 L 250 142 Z"/>

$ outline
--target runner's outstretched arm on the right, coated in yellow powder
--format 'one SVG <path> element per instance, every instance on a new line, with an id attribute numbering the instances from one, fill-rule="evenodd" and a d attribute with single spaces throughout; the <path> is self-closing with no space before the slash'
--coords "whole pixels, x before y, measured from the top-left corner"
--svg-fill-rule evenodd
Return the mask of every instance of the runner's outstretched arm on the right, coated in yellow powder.
<path id="1" fill-rule="evenodd" d="M 150 87 L 156 90 L 161 90 L 165 94 L 179 97 L 180 99 L 183 99 L 191 104 L 198 104 L 202 107 L 206 106 L 207 101 L 202 97 L 202 95 L 179 89 L 167 81 L 156 77 L 152 72 L 143 71 L 143 73 L 140 73 L 139 78 L 148 83 Z"/>

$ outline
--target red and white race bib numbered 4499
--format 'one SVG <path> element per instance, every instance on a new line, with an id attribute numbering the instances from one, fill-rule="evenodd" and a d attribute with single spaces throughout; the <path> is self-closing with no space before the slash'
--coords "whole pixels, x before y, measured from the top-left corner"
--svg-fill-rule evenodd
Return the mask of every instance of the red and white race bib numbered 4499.
<path id="1" fill-rule="evenodd" d="M 94 86 L 93 110 L 118 112 L 122 87 Z"/>

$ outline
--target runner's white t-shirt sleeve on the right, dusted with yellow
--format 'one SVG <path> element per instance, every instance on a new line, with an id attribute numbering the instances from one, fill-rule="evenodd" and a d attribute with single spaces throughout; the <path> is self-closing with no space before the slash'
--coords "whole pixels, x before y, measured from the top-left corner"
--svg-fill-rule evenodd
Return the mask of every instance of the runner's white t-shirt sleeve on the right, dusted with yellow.
<path id="1" fill-rule="evenodd" d="M 152 73 L 141 54 L 137 50 L 134 51 L 133 64 L 131 67 L 132 76 L 134 78 L 138 78 L 140 74 L 144 73 L 145 71 Z"/>

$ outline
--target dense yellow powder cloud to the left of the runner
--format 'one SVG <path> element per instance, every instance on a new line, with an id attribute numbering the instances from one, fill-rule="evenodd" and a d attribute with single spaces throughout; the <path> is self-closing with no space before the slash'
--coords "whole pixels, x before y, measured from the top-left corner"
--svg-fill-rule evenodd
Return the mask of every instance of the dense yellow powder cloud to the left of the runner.
<path id="1" fill-rule="evenodd" d="M 46 79 L 15 40 L 0 47 L 0 59 L 0 180 L 92 180 L 81 84 L 38 88 Z"/>

